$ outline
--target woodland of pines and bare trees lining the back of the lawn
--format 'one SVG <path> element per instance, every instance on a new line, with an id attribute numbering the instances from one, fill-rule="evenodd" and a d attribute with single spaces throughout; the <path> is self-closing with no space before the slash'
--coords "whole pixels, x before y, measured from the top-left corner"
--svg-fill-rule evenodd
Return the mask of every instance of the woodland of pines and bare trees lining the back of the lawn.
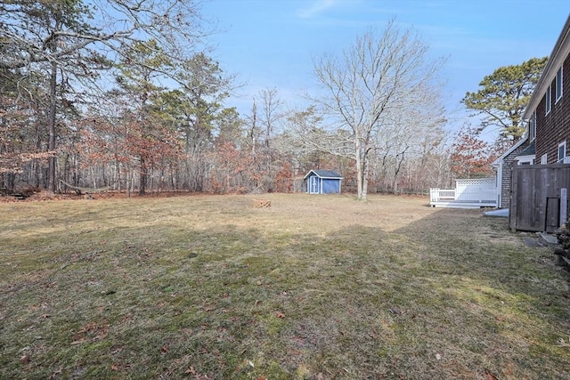
<path id="1" fill-rule="evenodd" d="M 224 103 L 235 77 L 200 48 L 211 32 L 201 21 L 196 4 L 175 0 L 0 4 L 0 187 L 288 192 L 332 169 L 343 191 L 401 193 L 492 173 L 497 151 L 480 130 L 444 132 L 430 87 L 442 62 L 426 66 L 423 45 L 393 22 L 351 47 L 371 69 L 354 82 L 335 77 L 346 72 L 336 61 L 315 63 L 333 97 L 289 109 L 266 88 L 241 115 Z M 370 75 L 379 61 L 382 75 Z M 361 102 L 347 104 L 354 93 Z"/>

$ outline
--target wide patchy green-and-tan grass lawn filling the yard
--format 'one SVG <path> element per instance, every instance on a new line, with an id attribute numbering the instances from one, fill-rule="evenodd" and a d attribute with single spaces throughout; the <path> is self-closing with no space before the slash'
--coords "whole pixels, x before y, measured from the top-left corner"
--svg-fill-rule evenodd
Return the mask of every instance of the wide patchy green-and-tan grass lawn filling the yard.
<path id="1" fill-rule="evenodd" d="M 0 204 L 0 378 L 556 379 L 569 276 L 427 198 Z"/>

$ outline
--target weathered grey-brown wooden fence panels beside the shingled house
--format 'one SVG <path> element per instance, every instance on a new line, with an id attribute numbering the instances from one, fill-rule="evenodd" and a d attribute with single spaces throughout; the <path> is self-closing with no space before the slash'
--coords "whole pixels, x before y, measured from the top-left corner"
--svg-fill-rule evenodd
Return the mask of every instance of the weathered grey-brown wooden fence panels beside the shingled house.
<path id="1" fill-rule="evenodd" d="M 570 166 L 515 165 L 510 183 L 511 230 L 552 232 L 567 220 Z"/>

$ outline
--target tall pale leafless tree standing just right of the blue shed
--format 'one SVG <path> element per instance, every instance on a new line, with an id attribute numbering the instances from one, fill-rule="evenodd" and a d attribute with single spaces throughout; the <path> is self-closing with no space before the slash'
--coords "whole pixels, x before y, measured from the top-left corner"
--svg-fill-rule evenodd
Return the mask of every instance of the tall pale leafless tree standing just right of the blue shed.
<path id="1" fill-rule="evenodd" d="M 334 146 L 326 145 L 354 159 L 360 199 L 368 193 L 371 152 L 386 149 L 378 145 L 382 134 L 394 135 L 403 126 L 399 121 L 418 128 L 433 125 L 435 120 L 426 120 L 419 110 L 443 110 L 431 103 L 438 97 L 434 81 L 443 60 L 428 61 L 427 53 L 427 44 L 411 29 L 402 31 L 391 20 L 379 36 L 368 31 L 340 57 L 327 54 L 314 61 L 324 90 L 314 101 L 330 117 L 328 138 L 337 137 Z M 403 148 L 396 158 L 409 149 Z"/>

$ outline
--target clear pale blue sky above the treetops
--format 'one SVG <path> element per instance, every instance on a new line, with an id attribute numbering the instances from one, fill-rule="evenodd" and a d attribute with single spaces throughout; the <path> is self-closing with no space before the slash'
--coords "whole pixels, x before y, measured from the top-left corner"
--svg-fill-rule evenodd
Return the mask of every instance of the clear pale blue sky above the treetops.
<path id="1" fill-rule="evenodd" d="M 318 91 L 314 59 L 341 54 L 371 28 L 394 19 L 428 44 L 431 59 L 445 58 L 447 128 L 477 119 L 460 103 L 495 69 L 550 56 L 570 14 L 570 0 L 210 0 L 202 15 L 214 22 L 210 55 L 237 92 L 226 101 L 242 116 L 264 89 L 276 89 L 288 109 L 307 106 Z M 486 131 L 492 141 L 498 131 Z"/>

